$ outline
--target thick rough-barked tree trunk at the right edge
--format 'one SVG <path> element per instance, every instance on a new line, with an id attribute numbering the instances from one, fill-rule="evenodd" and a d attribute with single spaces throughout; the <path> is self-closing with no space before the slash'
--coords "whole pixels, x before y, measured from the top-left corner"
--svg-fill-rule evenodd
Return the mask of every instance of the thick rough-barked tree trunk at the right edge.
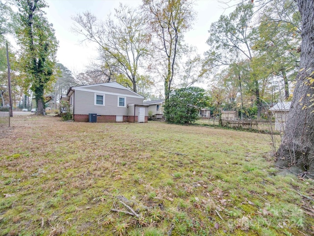
<path id="1" fill-rule="evenodd" d="M 298 0 L 302 16 L 300 71 L 277 161 L 314 171 L 314 1 Z M 287 161 L 288 160 L 288 161 Z"/>

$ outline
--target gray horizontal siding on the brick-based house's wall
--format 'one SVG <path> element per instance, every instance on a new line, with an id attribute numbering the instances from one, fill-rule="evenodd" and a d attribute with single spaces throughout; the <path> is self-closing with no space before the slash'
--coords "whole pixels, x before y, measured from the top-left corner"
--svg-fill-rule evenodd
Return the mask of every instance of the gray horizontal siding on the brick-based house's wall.
<path id="1" fill-rule="evenodd" d="M 110 92 L 112 91 L 110 90 Z M 102 92 L 100 91 L 99 93 L 101 94 Z M 131 95 L 134 94 L 132 93 Z M 118 107 L 118 95 L 111 94 L 105 94 L 105 106 L 98 106 L 95 105 L 94 92 L 76 90 L 74 113 L 75 115 L 88 115 L 89 113 L 96 113 L 97 115 L 107 116 L 128 116 L 128 104 L 143 103 L 143 98 L 128 97 L 127 94 L 124 96 L 126 97 L 126 107 Z M 134 113 L 132 115 L 134 115 Z"/>

